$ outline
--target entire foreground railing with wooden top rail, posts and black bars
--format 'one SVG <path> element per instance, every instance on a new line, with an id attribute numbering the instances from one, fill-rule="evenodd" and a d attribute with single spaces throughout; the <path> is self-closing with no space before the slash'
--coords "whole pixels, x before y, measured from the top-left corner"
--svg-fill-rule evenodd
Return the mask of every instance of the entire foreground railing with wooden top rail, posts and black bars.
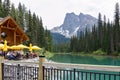
<path id="1" fill-rule="evenodd" d="M 44 57 L 40 57 L 38 62 L 1 60 L 1 63 L 17 65 L 19 68 L 22 67 L 21 69 L 23 70 L 27 69 L 27 67 L 29 69 L 38 68 L 36 69 L 36 75 L 38 75 L 36 77 L 38 78 L 35 80 L 120 80 L 120 66 L 44 62 Z M 3 67 L 0 65 L 0 71 L 3 70 Z M 19 74 L 20 70 L 17 68 L 16 72 Z M 28 70 L 28 72 L 24 73 L 27 74 L 29 72 Z M 18 80 L 20 79 L 19 75 L 17 77 Z M 3 73 L 1 72 L 0 80 L 4 80 L 2 76 Z M 25 79 L 27 80 L 27 77 Z M 29 80 L 34 79 L 31 78 Z"/>

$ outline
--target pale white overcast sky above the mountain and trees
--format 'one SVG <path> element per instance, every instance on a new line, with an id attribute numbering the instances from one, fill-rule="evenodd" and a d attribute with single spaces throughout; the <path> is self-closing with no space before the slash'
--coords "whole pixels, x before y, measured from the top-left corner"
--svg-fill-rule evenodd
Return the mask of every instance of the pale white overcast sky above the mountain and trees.
<path id="1" fill-rule="evenodd" d="M 60 26 L 65 18 L 66 13 L 74 12 L 90 14 L 98 17 L 98 13 L 106 15 L 113 20 L 115 4 L 120 0 L 11 0 L 15 6 L 21 2 L 25 4 L 27 10 L 35 12 L 42 17 L 43 25 L 48 29 Z"/>

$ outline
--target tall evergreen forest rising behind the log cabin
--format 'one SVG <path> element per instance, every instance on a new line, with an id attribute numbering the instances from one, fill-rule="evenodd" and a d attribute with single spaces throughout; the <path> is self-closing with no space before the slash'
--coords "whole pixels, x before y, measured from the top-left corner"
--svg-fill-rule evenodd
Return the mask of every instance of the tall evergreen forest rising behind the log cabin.
<path id="1" fill-rule="evenodd" d="M 12 16 L 18 25 L 29 36 L 30 41 L 25 42 L 26 45 L 32 43 L 39 47 L 44 47 L 51 51 L 52 38 L 50 31 L 45 30 L 42 23 L 42 18 L 35 13 L 27 10 L 24 4 L 19 3 L 15 7 L 10 0 L 0 0 L 0 17 Z"/>

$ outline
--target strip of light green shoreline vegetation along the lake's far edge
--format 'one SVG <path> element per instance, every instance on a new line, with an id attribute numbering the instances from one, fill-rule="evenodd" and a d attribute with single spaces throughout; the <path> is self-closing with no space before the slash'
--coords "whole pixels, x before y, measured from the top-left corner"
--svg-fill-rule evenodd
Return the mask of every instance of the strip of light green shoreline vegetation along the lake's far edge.
<path id="1" fill-rule="evenodd" d="M 111 55 L 108 55 L 106 52 L 102 51 L 102 49 L 98 49 L 93 52 L 50 52 L 50 51 L 37 51 L 38 55 L 44 55 L 47 59 L 50 59 L 56 54 L 62 54 L 62 55 L 77 55 L 77 56 L 88 56 L 88 57 L 94 57 L 94 58 L 105 58 L 105 57 L 110 57 L 110 58 L 120 58 L 120 53 L 114 52 Z M 44 54 L 42 54 L 44 53 Z"/>

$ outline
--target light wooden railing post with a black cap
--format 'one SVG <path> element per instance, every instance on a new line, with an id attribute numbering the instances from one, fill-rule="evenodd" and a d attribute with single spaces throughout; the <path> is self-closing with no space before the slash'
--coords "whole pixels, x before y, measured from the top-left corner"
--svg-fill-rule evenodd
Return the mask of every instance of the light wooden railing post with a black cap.
<path id="1" fill-rule="evenodd" d="M 39 56 L 39 80 L 43 80 L 43 62 L 45 61 L 45 56 Z"/>

